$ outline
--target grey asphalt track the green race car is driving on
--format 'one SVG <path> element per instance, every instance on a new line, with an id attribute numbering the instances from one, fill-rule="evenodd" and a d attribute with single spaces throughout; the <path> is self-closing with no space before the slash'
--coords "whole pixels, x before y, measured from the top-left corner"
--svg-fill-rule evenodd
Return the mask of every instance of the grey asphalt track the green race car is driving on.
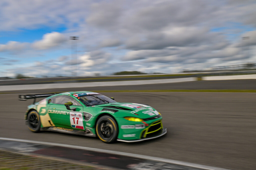
<path id="1" fill-rule="evenodd" d="M 34 91 L 35 92 L 35 91 Z M 24 122 L 32 100 L 0 95 L 0 136 L 71 144 L 234 170 L 256 169 L 256 93 L 123 92 L 102 93 L 120 102 L 155 107 L 167 134 L 138 142 L 106 144 L 98 138 L 58 132 L 33 133 Z"/>

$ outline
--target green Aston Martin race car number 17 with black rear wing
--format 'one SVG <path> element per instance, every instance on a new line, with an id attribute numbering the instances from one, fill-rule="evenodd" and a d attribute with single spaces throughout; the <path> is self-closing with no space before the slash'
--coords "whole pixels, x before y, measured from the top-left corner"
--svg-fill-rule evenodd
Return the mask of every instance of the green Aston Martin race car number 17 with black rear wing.
<path id="1" fill-rule="evenodd" d="M 36 98 L 45 99 L 35 102 Z M 27 99 L 34 99 L 25 114 L 26 124 L 33 132 L 98 136 L 106 143 L 143 141 L 167 132 L 161 114 L 146 104 L 116 102 L 89 91 L 19 95 L 19 100 Z"/>

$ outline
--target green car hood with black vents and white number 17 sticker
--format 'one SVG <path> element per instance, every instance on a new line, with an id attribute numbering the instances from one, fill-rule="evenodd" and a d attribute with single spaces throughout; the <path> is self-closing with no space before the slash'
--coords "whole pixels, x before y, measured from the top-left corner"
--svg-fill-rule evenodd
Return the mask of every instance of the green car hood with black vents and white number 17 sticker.
<path id="1" fill-rule="evenodd" d="M 124 116 L 134 116 L 139 118 L 149 118 L 159 115 L 159 113 L 151 106 L 138 103 L 107 103 L 102 105 L 96 105 L 95 107 L 103 107 L 105 110 L 112 109 L 115 111 L 123 112 Z M 125 114 L 126 113 L 126 114 Z"/>

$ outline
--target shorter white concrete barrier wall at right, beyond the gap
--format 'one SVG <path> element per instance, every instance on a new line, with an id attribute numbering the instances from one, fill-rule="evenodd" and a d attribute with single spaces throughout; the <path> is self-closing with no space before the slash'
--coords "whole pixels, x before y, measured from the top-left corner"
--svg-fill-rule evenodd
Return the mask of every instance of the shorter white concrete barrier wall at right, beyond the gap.
<path id="1" fill-rule="evenodd" d="M 207 77 L 202 77 L 202 80 L 237 80 L 237 79 L 256 79 L 256 74 L 234 75 L 234 76 L 207 76 Z"/>

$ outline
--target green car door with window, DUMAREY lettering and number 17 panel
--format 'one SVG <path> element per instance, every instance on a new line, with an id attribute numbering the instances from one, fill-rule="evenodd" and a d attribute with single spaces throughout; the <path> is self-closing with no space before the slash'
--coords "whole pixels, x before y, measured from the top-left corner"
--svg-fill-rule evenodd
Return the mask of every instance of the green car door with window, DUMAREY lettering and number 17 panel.
<path id="1" fill-rule="evenodd" d="M 66 102 L 72 102 L 70 108 L 76 108 L 76 111 L 68 110 L 64 105 Z M 57 127 L 84 129 L 83 106 L 71 96 L 58 95 L 50 98 L 48 114 Z"/>

